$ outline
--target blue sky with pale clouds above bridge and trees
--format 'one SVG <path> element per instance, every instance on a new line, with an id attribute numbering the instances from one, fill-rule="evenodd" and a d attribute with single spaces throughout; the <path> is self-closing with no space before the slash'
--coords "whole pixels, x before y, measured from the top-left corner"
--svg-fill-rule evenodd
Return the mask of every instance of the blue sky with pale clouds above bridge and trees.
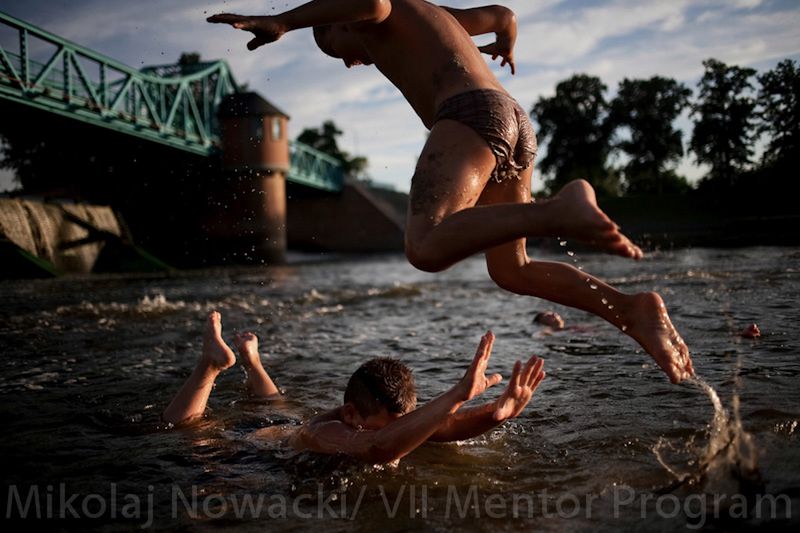
<path id="1" fill-rule="evenodd" d="M 335 1 L 335 0 L 330 0 Z M 248 33 L 205 18 L 214 13 L 273 14 L 299 0 L 0 0 L 0 11 L 21 18 L 130 66 L 174 63 L 182 52 L 224 59 L 247 83 L 291 116 L 290 136 L 332 119 L 340 145 L 370 161 L 378 183 L 407 191 L 426 129 L 400 93 L 374 67 L 347 69 L 322 54 L 310 30 L 284 35 L 250 52 Z M 486 2 L 450 0 L 474 7 Z M 800 59 L 798 0 L 511 0 L 517 14 L 517 74 L 493 65 L 498 79 L 527 110 L 552 96 L 575 73 L 598 76 L 613 97 L 624 78 L 667 76 L 695 88 L 702 61 L 763 72 L 781 59 Z M 476 43 L 491 42 L 491 36 Z M 0 41 L 2 42 L 2 41 Z M 491 62 L 489 57 L 487 61 Z M 0 120 L 2 118 L 0 117 Z M 688 142 L 690 120 L 681 117 Z M 678 171 L 698 179 L 691 157 Z M 0 190 L 10 187 L 0 175 Z M 534 190 L 541 176 L 534 173 Z"/>

